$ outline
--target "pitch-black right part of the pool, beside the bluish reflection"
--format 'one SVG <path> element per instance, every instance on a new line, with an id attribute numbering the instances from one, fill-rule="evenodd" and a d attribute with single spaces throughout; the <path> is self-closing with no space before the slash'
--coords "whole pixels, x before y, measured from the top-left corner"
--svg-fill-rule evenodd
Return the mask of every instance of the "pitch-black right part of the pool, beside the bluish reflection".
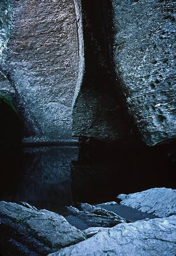
<path id="1" fill-rule="evenodd" d="M 176 189 L 176 143 L 154 147 L 82 143 L 72 162 L 72 195 L 78 202 L 116 201 L 154 187 Z"/>

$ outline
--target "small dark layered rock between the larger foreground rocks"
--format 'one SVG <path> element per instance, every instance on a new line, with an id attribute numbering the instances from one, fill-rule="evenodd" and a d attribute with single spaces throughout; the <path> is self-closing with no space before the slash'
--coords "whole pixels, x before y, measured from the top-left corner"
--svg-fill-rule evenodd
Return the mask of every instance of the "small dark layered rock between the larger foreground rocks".
<path id="1" fill-rule="evenodd" d="M 89 207 L 91 208 L 91 206 Z M 90 209 L 89 211 L 79 211 L 75 207 L 67 207 L 69 215 L 73 215 L 87 224 L 87 227 L 113 227 L 119 223 L 126 223 L 124 218 L 116 215 L 113 212 L 108 212 L 104 209 Z M 71 219 L 67 220 L 71 223 Z M 72 224 L 72 223 L 71 223 Z M 87 228 L 86 227 L 86 228 Z"/>

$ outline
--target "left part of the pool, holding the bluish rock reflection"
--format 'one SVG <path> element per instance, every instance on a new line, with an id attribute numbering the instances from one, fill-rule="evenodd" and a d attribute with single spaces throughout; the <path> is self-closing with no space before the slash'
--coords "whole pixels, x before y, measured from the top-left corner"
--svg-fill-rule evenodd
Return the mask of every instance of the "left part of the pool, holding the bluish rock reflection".
<path id="1" fill-rule="evenodd" d="M 1 200 L 25 201 L 46 209 L 72 205 L 71 162 L 77 157 L 78 147 L 68 146 L 3 152 Z"/>

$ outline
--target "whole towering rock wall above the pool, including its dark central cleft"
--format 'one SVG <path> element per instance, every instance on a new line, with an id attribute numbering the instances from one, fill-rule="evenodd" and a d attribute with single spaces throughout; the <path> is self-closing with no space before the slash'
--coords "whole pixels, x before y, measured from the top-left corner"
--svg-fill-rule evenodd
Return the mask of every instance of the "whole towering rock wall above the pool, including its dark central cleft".
<path id="1" fill-rule="evenodd" d="M 176 138 L 173 0 L 5 0 L 0 11 L 0 93 L 23 142 Z"/>

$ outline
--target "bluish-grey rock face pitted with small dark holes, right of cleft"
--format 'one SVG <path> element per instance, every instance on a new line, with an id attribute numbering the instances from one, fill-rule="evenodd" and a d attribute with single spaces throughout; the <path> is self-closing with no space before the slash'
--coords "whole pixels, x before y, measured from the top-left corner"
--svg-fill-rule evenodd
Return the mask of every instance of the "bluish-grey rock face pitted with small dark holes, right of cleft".
<path id="1" fill-rule="evenodd" d="M 112 0 L 116 74 L 133 122 L 147 145 L 176 138 L 172 0 Z"/>

